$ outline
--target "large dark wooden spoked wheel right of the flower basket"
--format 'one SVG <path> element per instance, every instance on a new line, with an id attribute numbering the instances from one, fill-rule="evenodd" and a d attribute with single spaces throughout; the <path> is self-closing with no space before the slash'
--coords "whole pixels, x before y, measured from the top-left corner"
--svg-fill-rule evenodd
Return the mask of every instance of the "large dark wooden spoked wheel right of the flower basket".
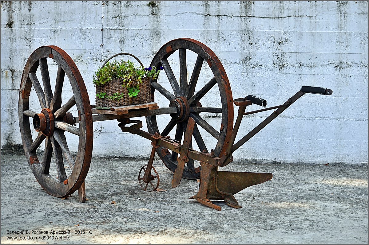
<path id="1" fill-rule="evenodd" d="M 177 82 L 172 67 L 168 62 L 169 56 L 176 50 L 179 50 L 179 82 Z M 194 52 L 195 55 L 197 54 L 197 59 L 194 63 L 194 68 L 189 81 L 187 79 L 186 50 Z M 180 141 L 182 139 L 183 132 L 186 131 L 188 119 L 191 116 L 197 125 L 206 130 L 206 132 L 213 136 L 217 142 L 214 146 L 206 146 L 200 130 L 196 126 L 193 131 L 193 138 L 195 139 L 199 150 L 210 152 L 213 148 L 214 155 L 217 157 L 225 154 L 225 149 L 227 148 L 227 144 L 230 140 L 233 127 L 232 92 L 224 67 L 214 52 L 199 41 L 188 38 L 175 39 L 162 46 L 162 48 L 156 53 L 150 66 L 155 66 L 157 69 L 159 69 L 160 66 L 164 68 L 166 77 L 168 78 L 173 90 L 172 94 L 167 90 L 167 88 L 164 88 L 163 85 L 158 83 L 158 79 L 161 76 L 164 76 L 162 71 L 159 78 L 151 83 L 151 96 L 153 101 L 155 91 L 158 91 L 168 99 L 169 106 L 176 106 L 177 113 L 170 114 L 172 119 L 160 132 L 156 122 L 156 116 L 146 116 L 149 132 L 158 132 L 162 136 L 167 136 L 169 132 L 176 127 L 175 140 Z M 198 81 L 200 71 L 202 70 L 201 68 L 204 69 L 204 66 L 210 67 L 210 73 L 212 73 L 211 76 L 207 78 L 208 80 L 206 80 L 206 85 L 203 85 L 203 83 Z M 200 101 L 201 98 L 203 98 L 204 95 L 206 95 L 211 88 L 215 86 L 215 84 L 218 86 L 220 98 L 219 95 L 217 95 L 218 97 L 213 99 L 221 101 L 221 108 L 202 107 Z M 195 94 L 196 90 L 197 92 Z M 221 114 L 221 125 L 219 125 L 217 129 L 211 126 L 206 121 L 206 118 L 203 118 L 202 115 L 206 112 Z M 192 142 L 190 147 L 192 148 Z M 163 147 L 157 148 L 156 153 L 162 159 L 166 167 L 168 167 L 170 171 L 174 172 L 177 167 L 178 154 L 175 152 L 170 153 L 166 149 L 163 149 Z M 182 178 L 197 179 L 199 177 L 199 168 L 196 169 L 194 167 L 193 159 L 189 159 L 187 166 L 183 171 Z"/>

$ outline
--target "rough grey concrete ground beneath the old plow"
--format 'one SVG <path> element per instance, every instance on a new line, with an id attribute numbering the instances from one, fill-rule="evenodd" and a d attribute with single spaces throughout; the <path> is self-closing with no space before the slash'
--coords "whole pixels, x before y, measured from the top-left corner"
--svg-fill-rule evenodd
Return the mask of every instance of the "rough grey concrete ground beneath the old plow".
<path id="1" fill-rule="evenodd" d="M 217 202 L 222 211 L 216 211 L 188 199 L 196 181 L 183 179 L 172 189 L 172 173 L 160 160 L 154 166 L 167 191 L 142 191 L 137 175 L 146 162 L 93 158 L 89 200 L 79 203 L 77 193 L 65 200 L 45 193 L 24 155 L 2 155 L 1 243 L 368 243 L 367 166 L 232 162 L 222 170 L 270 172 L 273 179 L 237 193 L 242 209 Z M 15 236 L 7 231 L 22 230 L 70 234 L 62 241 L 7 238 Z"/>

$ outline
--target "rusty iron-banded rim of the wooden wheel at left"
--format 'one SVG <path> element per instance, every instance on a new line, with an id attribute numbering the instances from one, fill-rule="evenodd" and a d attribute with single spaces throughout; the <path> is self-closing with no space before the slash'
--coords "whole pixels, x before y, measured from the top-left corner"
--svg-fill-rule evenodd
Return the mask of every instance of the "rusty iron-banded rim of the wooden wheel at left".
<path id="1" fill-rule="evenodd" d="M 39 139 L 42 143 L 42 141 L 44 141 L 46 138 L 45 144 L 48 143 L 48 149 L 49 149 L 51 148 L 51 145 L 50 145 L 51 143 L 49 142 L 51 140 L 55 140 L 56 134 L 60 136 L 61 134 L 64 134 L 67 132 L 64 132 L 63 130 L 59 130 L 59 129 L 54 129 L 54 130 L 51 130 L 52 134 L 48 136 L 45 136 L 45 135 L 42 136 L 39 132 L 39 136 L 35 139 L 35 141 L 33 141 L 32 134 L 31 134 L 31 127 L 30 127 L 30 118 L 34 116 L 34 115 L 32 116 L 32 111 L 30 112 L 29 110 L 29 94 L 31 91 L 31 87 L 34 87 L 34 84 L 33 84 L 34 81 L 33 80 L 31 81 L 30 73 L 32 74 L 36 73 L 37 69 L 40 69 L 43 72 L 45 72 L 45 69 L 42 69 L 40 67 L 40 63 L 45 62 L 46 59 L 53 59 L 54 62 L 58 64 L 57 77 L 62 77 L 61 80 L 62 81 L 65 80 L 64 81 L 65 83 L 68 83 L 68 79 L 69 79 L 70 85 L 73 90 L 73 96 L 76 101 L 75 105 L 77 107 L 77 110 L 81 112 L 81 119 L 80 119 L 79 127 L 78 127 L 78 130 L 79 130 L 78 131 L 79 132 L 78 153 L 77 153 L 77 157 L 74 158 L 75 165 L 74 165 L 72 173 L 69 176 L 66 176 L 67 178 L 63 181 L 56 180 L 51 175 L 48 174 L 48 167 L 47 166 L 44 167 L 47 164 L 43 165 L 43 162 L 39 161 L 39 158 L 37 157 L 36 150 L 37 148 L 39 148 L 39 145 L 35 144 L 36 143 L 35 141 Z M 42 64 L 43 66 L 45 66 L 44 63 Z M 48 67 L 47 62 L 46 62 L 47 75 L 49 75 L 48 73 L 49 68 L 50 67 Z M 64 77 L 67 77 L 67 78 L 65 79 Z M 42 79 L 41 77 L 38 79 L 39 79 L 40 84 L 44 84 L 43 91 L 45 91 L 46 93 L 45 84 L 46 86 L 50 86 L 50 80 L 53 78 L 49 77 L 48 83 L 47 82 L 44 83 L 43 76 L 42 76 Z M 62 85 L 63 85 L 63 82 L 61 83 L 61 86 Z M 37 91 L 35 89 L 35 91 L 36 91 L 35 93 L 39 95 L 39 90 Z M 54 94 L 55 91 L 56 91 L 55 89 L 54 91 L 51 91 L 52 95 L 55 96 L 56 94 L 58 94 L 58 98 L 60 97 L 60 103 L 61 103 L 61 96 L 62 96 L 61 91 L 62 90 L 60 88 L 60 93 Z M 45 96 L 45 100 L 47 100 L 46 96 Z M 45 106 L 42 109 L 45 109 L 46 112 L 49 113 L 50 111 L 49 105 L 51 105 L 52 103 L 53 102 L 48 101 L 46 104 L 47 106 Z M 42 102 L 40 100 L 40 105 L 41 104 Z M 56 102 L 54 103 L 54 105 L 56 108 Z M 41 107 L 43 106 L 41 105 Z M 89 167 L 90 167 L 91 156 L 92 156 L 92 146 L 93 146 L 93 125 L 92 125 L 92 113 L 91 113 L 90 101 L 89 101 L 89 96 L 87 94 L 85 83 L 83 81 L 83 78 L 79 70 L 77 69 L 76 64 L 73 62 L 72 58 L 64 50 L 58 48 L 57 46 L 42 46 L 36 49 L 30 55 L 30 57 L 28 58 L 25 64 L 23 75 L 21 78 L 20 94 L 19 94 L 19 101 L 18 101 L 18 116 L 19 116 L 20 131 L 21 131 L 21 137 L 22 137 L 25 156 L 27 157 L 30 168 L 33 174 L 35 175 L 38 183 L 42 186 L 42 188 L 44 188 L 46 192 L 56 197 L 65 197 L 75 192 L 82 185 L 83 181 L 86 178 Z M 55 122 L 62 121 L 62 119 L 60 118 L 58 119 L 54 118 L 54 115 L 52 117 Z M 63 115 L 61 115 L 61 118 L 63 118 Z M 52 123 L 51 127 L 53 126 L 54 124 Z M 65 136 L 64 136 L 64 139 L 65 139 Z M 53 141 L 53 142 L 55 144 L 55 142 L 57 141 Z M 36 146 L 32 147 L 34 145 Z M 52 154 L 54 155 L 55 154 L 54 145 L 52 147 L 53 147 Z M 55 149 L 56 151 L 58 151 L 59 148 L 55 148 Z M 47 156 L 48 157 L 46 158 L 51 159 L 50 150 L 48 150 Z M 45 162 L 48 162 L 48 160 L 46 159 Z"/>

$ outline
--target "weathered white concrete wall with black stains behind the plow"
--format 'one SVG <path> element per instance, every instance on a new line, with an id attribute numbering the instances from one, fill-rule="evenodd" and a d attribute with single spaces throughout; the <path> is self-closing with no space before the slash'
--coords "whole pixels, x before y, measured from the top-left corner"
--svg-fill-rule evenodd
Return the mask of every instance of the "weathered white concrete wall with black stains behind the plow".
<path id="1" fill-rule="evenodd" d="M 100 65 L 104 14 L 104 59 L 124 51 L 148 66 L 163 44 L 188 37 L 205 43 L 220 58 L 233 98 L 252 94 L 273 106 L 285 102 L 302 85 L 333 90 L 331 96 L 300 98 L 236 151 L 235 159 L 368 162 L 366 1 L 147 4 L 107 2 L 103 13 L 101 1 L 2 2 L 1 145 L 21 144 L 20 78 L 28 56 L 39 46 L 57 45 L 75 60 L 94 104 L 92 75 Z M 70 91 L 63 93 L 64 99 L 70 98 Z M 216 106 L 218 101 L 208 103 Z M 245 116 L 238 138 L 269 114 Z M 161 117 L 159 123 L 167 120 Z M 94 139 L 95 155 L 148 157 L 148 140 L 120 132 L 116 121 L 105 121 L 103 127 Z"/>

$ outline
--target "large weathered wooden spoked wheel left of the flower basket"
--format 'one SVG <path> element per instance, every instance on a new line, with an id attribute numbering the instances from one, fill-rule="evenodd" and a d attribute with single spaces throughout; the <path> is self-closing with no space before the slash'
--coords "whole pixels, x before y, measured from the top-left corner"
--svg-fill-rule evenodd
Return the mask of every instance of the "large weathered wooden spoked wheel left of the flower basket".
<path id="1" fill-rule="evenodd" d="M 58 65 L 56 79 L 49 75 L 47 59 L 54 60 Z M 38 69 L 41 77 L 36 75 Z M 64 87 L 69 86 L 68 82 L 64 81 L 65 75 L 69 79 L 73 95 L 68 102 L 62 103 L 62 91 L 65 91 L 63 84 Z M 52 80 L 53 83 L 55 81 L 54 91 L 51 79 L 55 79 Z M 37 95 L 39 111 L 30 110 L 30 93 L 31 96 Z M 79 115 L 71 115 L 68 112 L 74 105 Z M 65 197 L 84 185 L 93 146 L 91 106 L 82 76 L 64 50 L 57 46 L 42 46 L 28 58 L 21 80 L 18 113 L 24 152 L 42 188 L 53 196 Z M 33 126 L 30 125 L 30 119 Z M 78 127 L 73 126 L 76 123 L 79 123 Z M 38 136 L 32 140 L 34 130 L 38 132 Z M 78 137 L 78 149 L 73 149 L 78 151 L 76 157 L 70 153 L 67 134 L 75 134 Z M 37 156 L 36 150 L 41 148 L 43 141 L 45 149 L 41 159 Z M 67 163 L 69 167 L 64 165 Z M 56 168 L 58 176 L 49 174 L 50 170 L 55 171 L 50 169 L 50 166 Z M 72 170 L 69 176 L 65 168 Z"/>

